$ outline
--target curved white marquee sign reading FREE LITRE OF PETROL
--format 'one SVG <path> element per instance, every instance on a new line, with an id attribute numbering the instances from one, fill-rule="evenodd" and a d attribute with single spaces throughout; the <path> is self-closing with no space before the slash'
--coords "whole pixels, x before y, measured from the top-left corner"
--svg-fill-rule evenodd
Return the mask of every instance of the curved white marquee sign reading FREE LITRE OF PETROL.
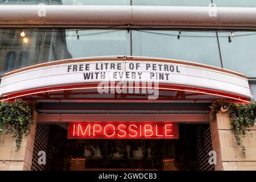
<path id="1" fill-rule="evenodd" d="M 236 98 L 250 99 L 247 78 L 236 72 L 179 60 L 157 59 L 76 59 L 63 60 L 7 73 L 0 94 L 11 94 L 100 82 L 141 81 L 214 90 Z"/>

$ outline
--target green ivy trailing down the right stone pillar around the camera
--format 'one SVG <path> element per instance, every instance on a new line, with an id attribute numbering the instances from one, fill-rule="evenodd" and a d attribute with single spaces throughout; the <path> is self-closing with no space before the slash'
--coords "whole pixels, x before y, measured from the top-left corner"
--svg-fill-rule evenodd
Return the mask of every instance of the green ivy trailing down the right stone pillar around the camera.
<path id="1" fill-rule="evenodd" d="M 250 104 L 233 103 L 229 100 L 217 100 L 210 106 L 213 109 L 212 121 L 216 121 L 217 113 L 222 106 L 227 106 L 229 109 L 230 125 L 233 131 L 234 138 L 238 146 L 241 147 L 242 154 L 245 156 L 245 146 L 242 144 L 242 138 L 245 137 L 245 131 L 250 131 L 250 127 L 254 125 L 256 118 L 256 102 Z"/>

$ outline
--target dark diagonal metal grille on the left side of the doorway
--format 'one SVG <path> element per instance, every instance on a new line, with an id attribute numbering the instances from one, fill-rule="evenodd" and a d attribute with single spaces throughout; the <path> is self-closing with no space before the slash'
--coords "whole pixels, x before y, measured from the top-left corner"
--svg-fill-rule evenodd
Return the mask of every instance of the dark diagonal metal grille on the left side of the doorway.
<path id="1" fill-rule="evenodd" d="M 37 124 L 36 133 L 35 133 L 35 142 L 34 142 L 34 151 L 32 157 L 32 171 L 45 171 L 47 169 L 47 164 L 38 164 L 38 152 L 47 151 L 48 144 L 48 135 L 49 135 L 49 125 L 47 124 Z"/>

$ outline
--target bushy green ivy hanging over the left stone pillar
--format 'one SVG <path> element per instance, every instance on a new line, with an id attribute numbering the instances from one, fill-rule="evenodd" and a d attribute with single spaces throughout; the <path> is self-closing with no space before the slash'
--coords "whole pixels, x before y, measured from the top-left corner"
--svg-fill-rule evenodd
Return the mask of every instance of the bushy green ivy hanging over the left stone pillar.
<path id="1" fill-rule="evenodd" d="M 13 134 L 16 151 L 19 150 L 23 135 L 30 133 L 34 123 L 35 105 L 33 102 L 15 100 L 0 102 L 0 133 Z"/>

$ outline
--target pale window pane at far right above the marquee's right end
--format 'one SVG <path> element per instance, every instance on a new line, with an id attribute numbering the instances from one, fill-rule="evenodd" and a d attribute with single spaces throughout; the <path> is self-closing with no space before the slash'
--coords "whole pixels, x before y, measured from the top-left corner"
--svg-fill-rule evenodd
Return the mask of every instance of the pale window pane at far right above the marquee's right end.
<path id="1" fill-rule="evenodd" d="M 234 32 L 229 43 L 230 32 L 219 32 L 223 66 L 248 77 L 256 76 L 256 32 Z"/>

